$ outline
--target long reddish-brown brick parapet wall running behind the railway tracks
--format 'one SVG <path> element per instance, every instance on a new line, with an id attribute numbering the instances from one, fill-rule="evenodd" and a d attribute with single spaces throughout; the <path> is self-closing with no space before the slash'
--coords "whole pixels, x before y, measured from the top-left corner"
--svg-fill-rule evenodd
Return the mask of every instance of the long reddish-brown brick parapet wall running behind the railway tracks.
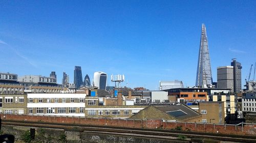
<path id="1" fill-rule="evenodd" d="M 241 123 L 228 124 L 203 124 L 189 122 L 165 122 L 161 119 L 112 119 L 112 118 L 84 118 L 84 117 L 60 117 L 60 116 L 30 116 L 30 115 L 5 115 L 0 114 L 2 120 L 48 122 L 48 123 L 72 123 L 83 125 L 118 126 L 132 128 L 159 128 L 185 131 L 198 131 L 206 133 L 256 135 L 256 124 Z"/>

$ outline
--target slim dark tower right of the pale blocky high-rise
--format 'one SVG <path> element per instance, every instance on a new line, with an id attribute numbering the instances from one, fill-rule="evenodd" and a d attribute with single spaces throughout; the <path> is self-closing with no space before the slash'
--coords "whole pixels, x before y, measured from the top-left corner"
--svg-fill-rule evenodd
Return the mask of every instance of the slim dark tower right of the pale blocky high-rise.
<path id="1" fill-rule="evenodd" d="M 237 59 L 232 59 L 231 66 L 233 66 L 234 74 L 234 92 L 238 93 L 242 90 L 242 80 L 241 80 L 241 63 L 237 62 Z"/>

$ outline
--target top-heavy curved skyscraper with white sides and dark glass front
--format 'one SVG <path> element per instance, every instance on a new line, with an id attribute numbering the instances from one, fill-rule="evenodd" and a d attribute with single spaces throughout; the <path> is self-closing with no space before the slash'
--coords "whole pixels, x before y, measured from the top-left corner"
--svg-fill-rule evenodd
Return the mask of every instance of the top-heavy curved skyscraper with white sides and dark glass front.
<path id="1" fill-rule="evenodd" d="M 103 72 L 95 72 L 94 73 L 94 86 L 98 87 L 99 89 L 105 90 L 106 89 L 106 73 Z"/>

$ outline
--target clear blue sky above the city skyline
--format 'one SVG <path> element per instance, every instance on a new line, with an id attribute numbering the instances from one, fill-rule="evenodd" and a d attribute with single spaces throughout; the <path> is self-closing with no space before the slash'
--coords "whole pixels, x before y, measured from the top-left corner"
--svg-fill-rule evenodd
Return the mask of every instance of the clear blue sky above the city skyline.
<path id="1" fill-rule="evenodd" d="M 213 80 L 237 58 L 244 84 L 256 62 L 256 1 L 0 0 L 0 72 L 56 71 L 61 83 L 63 71 L 73 82 L 81 66 L 83 78 L 103 71 L 109 85 L 111 74 L 124 74 L 121 85 L 131 88 L 175 79 L 194 86 L 202 23 Z"/>

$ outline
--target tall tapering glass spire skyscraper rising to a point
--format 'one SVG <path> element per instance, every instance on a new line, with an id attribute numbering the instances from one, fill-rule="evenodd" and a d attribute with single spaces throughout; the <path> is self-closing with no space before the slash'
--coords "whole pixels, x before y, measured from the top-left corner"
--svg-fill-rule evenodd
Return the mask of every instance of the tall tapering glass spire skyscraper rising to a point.
<path id="1" fill-rule="evenodd" d="M 208 40 L 206 36 L 206 27 L 202 24 L 201 41 L 198 55 L 196 86 L 212 84 L 210 56 L 208 49 Z"/>

